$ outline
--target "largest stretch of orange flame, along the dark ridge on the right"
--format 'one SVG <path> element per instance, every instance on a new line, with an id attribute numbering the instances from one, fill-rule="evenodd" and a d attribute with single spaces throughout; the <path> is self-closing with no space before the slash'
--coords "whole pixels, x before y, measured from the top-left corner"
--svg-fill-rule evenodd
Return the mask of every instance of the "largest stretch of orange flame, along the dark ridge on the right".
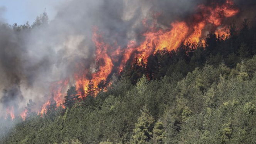
<path id="1" fill-rule="evenodd" d="M 202 33 L 207 24 L 214 25 L 214 27 L 221 26 L 222 21 L 226 17 L 232 17 L 236 15 L 239 10 L 234 7 L 234 3 L 231 0 L 227 0 L 223 5 L 217 5 L 216 7 L 199 5 L 199 13 L 196 13 L 192 17 L 192 22 L 173 22 L 171 23 L 170 30 L 152 30 L 151 32 L 146 32 L 145 41 L 141 43 L 140 46 L 134 48 L 127 46 L 124 54 L 124 59 L 120 65 L 120 71 L 128 59 L 130 59 L 131 54 L 136 51 L 136 55 L 133 57 L 141 57 L 144 62 L 147 62 L 147 58 L 150 54 L 153 54 L 157 50 L 162 50 L 164 47 L 167 50 L 176 50 L 182 42 L 189 43 L 199 43 L 200 41 L 204 44 L 205 34 Z M 143 23 L 146 20 L 143 20 Z M 146 25 L 146 24 L 144 24 Z M 154 27 L 150 27 L 153 29 Z M 220 28 L 216 30 L 216 33 L 228 36 L 225 30 Z"/>

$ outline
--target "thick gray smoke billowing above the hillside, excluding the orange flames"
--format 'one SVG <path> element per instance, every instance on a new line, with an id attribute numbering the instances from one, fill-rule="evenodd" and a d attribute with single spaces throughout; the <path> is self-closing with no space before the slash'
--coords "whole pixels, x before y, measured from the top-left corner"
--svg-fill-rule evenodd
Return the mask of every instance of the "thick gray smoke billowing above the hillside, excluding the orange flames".
<path id="1" fill-rule="evenodd" d="M 256 3 L 235 2 L 239 8 L 254 7 Z M 47 22 L 46 15 L 41 15 L 33 26 L 24 26 L 22 30 L 5 24 L 1 18 L 4 8 L 0 8 L 0 117 L 6 116 L 7 107 L 19 114 L 29 99 L 38 110 L 51 95 L 49 87 L 56 80 L 68 77 L 69 85 L 74 85 L 75 64 L 93 65 L 94 26 L 108 44 L 117 42 L 124 49 L 130 40 L 143 40 L 144 18 L 153 22 L 154 14 L 161 13 L 158 27 L 167 28 L 174 20 L 194 13 L 200 3 L 208 5 L 211 1 L 67 0 L 59 5 L 53 20 Z M 242 10 L 241 19 L 247 13 Z"/>

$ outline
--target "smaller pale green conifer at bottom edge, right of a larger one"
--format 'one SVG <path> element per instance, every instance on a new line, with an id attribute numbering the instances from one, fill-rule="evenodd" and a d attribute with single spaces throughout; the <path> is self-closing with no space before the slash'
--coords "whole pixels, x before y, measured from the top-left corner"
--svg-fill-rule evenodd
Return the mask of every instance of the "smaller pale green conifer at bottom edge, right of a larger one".
<path id="1" fill-rule="evenodd" d="M 153 129 L 153 143 L 163 144 L 166 137 L 166 132 L 163 128 L 163 122 L 158 121 Z"/>

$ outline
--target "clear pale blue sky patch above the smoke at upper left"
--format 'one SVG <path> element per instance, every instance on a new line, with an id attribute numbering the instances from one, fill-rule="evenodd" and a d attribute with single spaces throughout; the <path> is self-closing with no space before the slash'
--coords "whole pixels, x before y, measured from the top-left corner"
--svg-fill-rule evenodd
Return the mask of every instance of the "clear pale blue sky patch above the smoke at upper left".
<path id="1" fill-rule="evenodd" d="M 19 25 L 32 24 L 44 11 L 49 19 L 56 15 L 56 9 L 65 0 L 0 0 L 0 11 L 4 22 Z"/>

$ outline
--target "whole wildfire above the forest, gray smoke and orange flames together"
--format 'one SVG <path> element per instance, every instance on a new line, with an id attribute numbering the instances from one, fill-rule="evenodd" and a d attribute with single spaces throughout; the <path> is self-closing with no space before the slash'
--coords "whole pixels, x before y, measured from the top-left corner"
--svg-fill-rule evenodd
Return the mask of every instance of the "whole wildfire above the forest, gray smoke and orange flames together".
<path id="1" fill-rule="evenodd" d="M 64 108 L 70 85 L 76 85 L 84 99 L 90 80 L 96 86 L 113 73 L 120 74 L 136 58 L 147 62 L 157 50 L 176 50 L 182 43 L 204 45 L 208 33 L 228 37 L 232 18 L 247 13 L 237 3 L 240 1 L 77 0 L 64 4 L 54 20 L 32 32 L 2 26 L 4 94 L 0 108 L 4 113 L 0 116 L 25 119 L 29 99 L 36 102 L 34 111 L 40 114 L 52 99 Z"/>

